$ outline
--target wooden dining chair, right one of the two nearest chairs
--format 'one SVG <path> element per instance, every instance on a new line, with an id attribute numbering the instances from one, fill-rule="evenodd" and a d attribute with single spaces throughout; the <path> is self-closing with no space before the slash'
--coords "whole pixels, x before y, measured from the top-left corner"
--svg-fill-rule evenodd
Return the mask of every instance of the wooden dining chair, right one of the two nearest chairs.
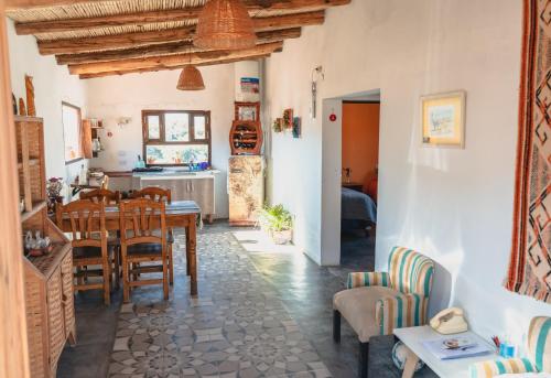
<path id="1" fill-rule="evenodd" d="M 123 301 L 133 287 L 163 285 L 169 299 L 169 261 L 164 202 L 136 198 L 120 203 L 120 247 L 122 256 Z M 155 233 L 155 230 L 160 230 Z M 145 264 L 159 261 L 160 264 Z M 144 273 L 162 272 L 162 279 L 141 279 Z"/>

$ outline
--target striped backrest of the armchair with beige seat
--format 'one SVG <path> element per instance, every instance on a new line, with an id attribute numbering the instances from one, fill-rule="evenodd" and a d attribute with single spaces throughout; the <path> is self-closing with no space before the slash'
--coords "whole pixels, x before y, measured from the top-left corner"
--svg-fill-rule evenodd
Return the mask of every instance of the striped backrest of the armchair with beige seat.
<path id="1" fill-rule="evenodd" d="M 395 247 L 389 256 L 390 284 L 404 294 L 415 293 L 429 296 L 432 287 L 434 262 L 403 247 Z"/>

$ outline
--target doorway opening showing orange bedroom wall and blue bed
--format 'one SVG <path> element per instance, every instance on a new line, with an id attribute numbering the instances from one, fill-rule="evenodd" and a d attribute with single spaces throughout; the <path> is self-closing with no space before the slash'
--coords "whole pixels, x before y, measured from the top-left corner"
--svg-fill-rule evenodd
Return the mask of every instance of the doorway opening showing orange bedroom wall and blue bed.
<path id="1" fill-rule="evenodd" d="M 372 267 L 377 231 L 379 99 L 343 100 L 341 264 Z"/>

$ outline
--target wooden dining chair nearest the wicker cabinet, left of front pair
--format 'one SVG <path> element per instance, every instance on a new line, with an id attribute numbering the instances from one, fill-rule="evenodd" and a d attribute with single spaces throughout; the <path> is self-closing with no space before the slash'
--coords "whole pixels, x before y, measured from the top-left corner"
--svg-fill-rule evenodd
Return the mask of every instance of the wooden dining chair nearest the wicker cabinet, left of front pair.
<path id="1" fill-rule="evenodd" d="M 75 291 L 104 290 L 104 302 L 110 303 L 111 263 L 107 247 L 105 226 L 105 204 L 88 199 L 78 199 L 56 208 L 56 222 L 62 227 L 64 219 L 71 223 L 73 245 L 74 278 L 77 284 Z M 99 266 L 100 269 L 89 270 L 88 267 Z M 84 268 L 84 270 L 83 270 Z M 89 283 L 88 277 L 101 277 L 102 282 Z M 85 280 L 86 278 L 86 280 Z"/>

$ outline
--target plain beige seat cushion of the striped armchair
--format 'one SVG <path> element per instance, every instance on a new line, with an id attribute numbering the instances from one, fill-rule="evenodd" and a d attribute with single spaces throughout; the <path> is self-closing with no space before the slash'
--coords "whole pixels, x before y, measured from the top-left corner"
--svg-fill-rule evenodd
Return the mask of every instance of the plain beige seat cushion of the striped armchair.
<path id="1" fill-rule="evenodd" d="M 385 287 L 355 288 L 339 291 L 333 298 L 333 306 L 354 328 L 361 343 L 379 335 L 380 327 L 375 321 L 377 301 L 382 296 L 397 295 L 398 292 Z"/>

